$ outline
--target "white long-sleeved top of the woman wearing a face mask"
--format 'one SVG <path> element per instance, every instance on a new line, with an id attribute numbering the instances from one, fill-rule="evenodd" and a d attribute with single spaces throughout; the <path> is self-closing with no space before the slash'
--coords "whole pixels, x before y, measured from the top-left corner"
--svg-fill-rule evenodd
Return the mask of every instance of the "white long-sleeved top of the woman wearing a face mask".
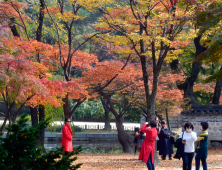
<path id="1" fill-rule="evenodd" d="M 183 132 L 180 134 L 180 138 L 182 138 Z M 194 142 L 197 141 L 196 132 L 187 133 L 186 131 L 183 134 L 183 139 L 186 139 L 186 144 L 184 146 L 185 153 L 191 153 L 195 151 Z"/>

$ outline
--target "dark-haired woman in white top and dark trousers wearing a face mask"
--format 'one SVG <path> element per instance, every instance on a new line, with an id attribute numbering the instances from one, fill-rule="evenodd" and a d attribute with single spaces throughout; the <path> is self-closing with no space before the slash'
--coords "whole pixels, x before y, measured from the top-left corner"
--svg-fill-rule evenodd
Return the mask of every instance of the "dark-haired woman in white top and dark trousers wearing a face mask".
<path id="1" fill-rule="evenodd" d="M 180 138 L 182 138 L 183 134 L 183 141 L 182 143 L 184 145 L 184 155 L 182 156 L 183 159 L 183 170 L 191 170 L 192 169 L 192 160 L 194 157 L 194 142 L 197 141 L 197 134 L 196 132 L 193 132 L 193 124 L 190 122 L 187 122 L 184 125 L 185 131 L 180 134 Z"/>

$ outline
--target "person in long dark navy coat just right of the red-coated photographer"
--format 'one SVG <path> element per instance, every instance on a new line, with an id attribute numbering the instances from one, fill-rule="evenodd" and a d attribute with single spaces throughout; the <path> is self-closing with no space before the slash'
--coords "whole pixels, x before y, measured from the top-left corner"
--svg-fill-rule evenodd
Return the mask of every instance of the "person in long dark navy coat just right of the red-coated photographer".
<path id="1" fill-rule="evenodd" d="M 166 160 L 166 155 L 169 155 L 169 160 L 172 160 L 173 146 L 170 141 L 171 132 L 166 127 L 166 121 L 161 121 L 161 131 L 159 134 L 159 155 L 162 155 L 162 160 Z"/>

